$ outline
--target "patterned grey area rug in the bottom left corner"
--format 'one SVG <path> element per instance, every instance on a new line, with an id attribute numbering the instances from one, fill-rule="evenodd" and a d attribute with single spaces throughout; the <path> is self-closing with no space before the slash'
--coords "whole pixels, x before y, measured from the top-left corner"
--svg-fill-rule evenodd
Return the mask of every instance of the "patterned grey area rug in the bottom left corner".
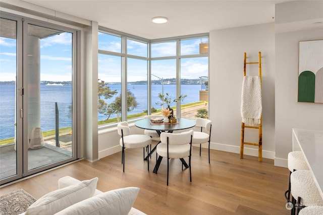
<path id="1" fill-rule="evenodd" d="M 20 214 L 36 201 L 25 190 L 19 189 L 6 195 L 0 196 L 0 214 Z"/>

